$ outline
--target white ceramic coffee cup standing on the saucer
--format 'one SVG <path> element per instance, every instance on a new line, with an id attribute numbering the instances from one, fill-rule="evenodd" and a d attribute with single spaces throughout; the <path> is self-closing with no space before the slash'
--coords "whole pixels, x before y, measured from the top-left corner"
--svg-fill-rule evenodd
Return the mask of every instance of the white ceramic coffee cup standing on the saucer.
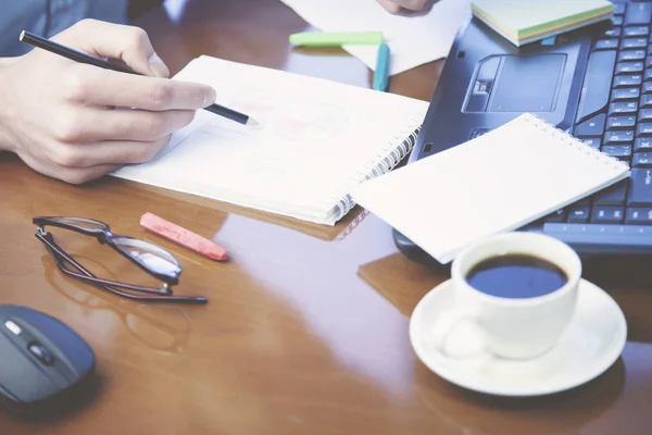
<path id="1" fill-rule="evenodd" d="M 523 298 L 493 296 L 469 285 L 466 278 L 474 266 L 505 254 L 547 260 L 559 266 L 567 281 L 552 293 Z M 436 339 L 443 355 L 468 359 L 485 353 L 526 360 L 548 352 L 570 323 L 581 262 L 569 246 L 555 238 L 513 232 L 488 237 L 464 249 L 453 261 L 451 275 L 454 307 L 436 325 Z"/>

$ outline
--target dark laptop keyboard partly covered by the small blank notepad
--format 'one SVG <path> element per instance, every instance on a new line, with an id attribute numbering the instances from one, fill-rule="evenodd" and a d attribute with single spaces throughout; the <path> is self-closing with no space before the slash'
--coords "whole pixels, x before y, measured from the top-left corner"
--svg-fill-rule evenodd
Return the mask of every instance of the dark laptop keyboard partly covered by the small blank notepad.
<path id="1" fill-rule="evenodd" d="M 651 26 L 652 2 L 614 4 L 612 24 L 592 42 L 580 123 L 573 129 L 589 146 L 629 164 L 630 178 L 546 222 L 652 225 Z"/>

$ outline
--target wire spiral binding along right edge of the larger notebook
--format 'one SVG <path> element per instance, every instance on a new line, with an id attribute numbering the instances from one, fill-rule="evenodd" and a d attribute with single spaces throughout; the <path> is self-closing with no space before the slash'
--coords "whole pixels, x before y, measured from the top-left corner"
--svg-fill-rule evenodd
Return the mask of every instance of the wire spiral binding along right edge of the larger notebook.
<path id="1" fill-rule="evenodd" d="M 391 171 L 397 164 L 401 162 L 414 148 L 416 138 L 421 130 L 421 121 L 414 122 L 418 125 L 415 128 L 406 128 L 399 134 L 393 136 L 393 140 L 387 147 L 383 148 L 376 156 L 372 158 L 361 170 L 359 170 L 353 177 L 350 178 L 352 185 L 366 182 L 367 179 L 375 178 L 379 175 L 384 175 Z M 413 124 L 413 125 L 414 125 Z M 398 144 L 398 145 L 397 145 Z M 349 192 L 343 198 L 331 197 L 330 200 L 337 201 L 337 212 L 335 214 L 336 221 L 347 215 L 353 207 L 355 201 Z"/>

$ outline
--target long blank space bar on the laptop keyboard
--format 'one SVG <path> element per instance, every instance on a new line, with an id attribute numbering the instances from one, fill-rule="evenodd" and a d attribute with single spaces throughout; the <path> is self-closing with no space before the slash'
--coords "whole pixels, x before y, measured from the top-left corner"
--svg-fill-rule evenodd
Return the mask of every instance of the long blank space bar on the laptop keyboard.
<path id="1" fill-rule="evenodd" d="M 585 97 L 579 102 L 578 120 L 582 120 L 606 105 L 615 64 L 616 52 L 614 50 L 591 53 L 581 89 L 581 95 Z"/>

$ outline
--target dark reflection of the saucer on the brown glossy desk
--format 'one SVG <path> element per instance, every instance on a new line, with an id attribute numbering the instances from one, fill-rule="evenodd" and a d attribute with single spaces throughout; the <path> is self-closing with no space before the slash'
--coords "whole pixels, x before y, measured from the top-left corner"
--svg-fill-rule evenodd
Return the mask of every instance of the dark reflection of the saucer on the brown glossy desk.
<path id="1" fill-rule="evenodd" d="M 618 359 L 602 376 L 573 390 L 511 398 L 457 388 L 418 361 L 414 371 L 421 399 L 449 427 L 444 433 L 464 435 L 593 434 L 589 426 L 617 408 L 626 381 L 625 363 Z"/>

